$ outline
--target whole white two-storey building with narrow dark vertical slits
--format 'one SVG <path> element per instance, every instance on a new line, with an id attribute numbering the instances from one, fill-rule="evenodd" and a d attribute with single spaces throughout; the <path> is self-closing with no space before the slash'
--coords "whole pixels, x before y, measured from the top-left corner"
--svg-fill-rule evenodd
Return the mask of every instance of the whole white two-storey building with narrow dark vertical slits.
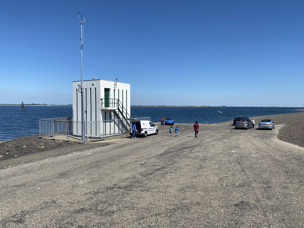
<path id="1" fill-rule="evenodd" d="M 73 81 L 73 135 L 81 135 L 81 81 Z M 119 136 L 128 132 L 130 122 L 130 84 L 83 81 L 85 96 L 85 137 L 88 140 Z"/>

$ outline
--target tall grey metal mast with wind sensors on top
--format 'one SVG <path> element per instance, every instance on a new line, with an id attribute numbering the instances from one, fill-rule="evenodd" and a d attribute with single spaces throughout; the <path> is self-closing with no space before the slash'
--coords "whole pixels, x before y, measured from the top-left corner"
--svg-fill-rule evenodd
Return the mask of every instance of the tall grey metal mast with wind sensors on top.
<path id="1" fill-rule="evenodd" d="M 81 41 L 81 139 L 82 141 L 85 143 L 85 89 L 83 88 L 83 81 L 82 81 L 82 49 L 83 49 L 83 24 L 85 23 L 85 18 L 81 16 L 81 19 L 83 19 L 83 21 L 80 20 L 79 18 L 79 11 L 78 12 L 78 20 L 80 22 L 80 41 Z"/>

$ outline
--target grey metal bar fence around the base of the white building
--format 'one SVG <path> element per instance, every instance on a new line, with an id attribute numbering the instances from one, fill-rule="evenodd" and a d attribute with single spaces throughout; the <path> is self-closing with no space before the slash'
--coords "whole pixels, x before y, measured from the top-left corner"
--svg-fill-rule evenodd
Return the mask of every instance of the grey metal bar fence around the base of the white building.
<path id="1" fill-rule="evenodd" d="M 82 140 L 82 122 L 73 121 L 71 117 L 39 120 L 39 136 L 53 140 L 92 142 L 109 138 L 118 138 L 129 134 L 132 119 L 112 119 L 85 122 L 85 140 Z M 138 117 L 150 120 L 150 117 Z"/>

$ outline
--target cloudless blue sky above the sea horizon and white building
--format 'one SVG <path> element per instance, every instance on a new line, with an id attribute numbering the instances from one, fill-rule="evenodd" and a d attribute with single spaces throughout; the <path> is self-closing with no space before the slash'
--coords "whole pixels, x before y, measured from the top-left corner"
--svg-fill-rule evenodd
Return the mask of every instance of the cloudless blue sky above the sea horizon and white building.
<path id="1" fill-rule="evenodd" d="M 304 106 L 303 0 L 1 3 L 0 104 L 72 104 L 81 79 L 131 105 Z"/>

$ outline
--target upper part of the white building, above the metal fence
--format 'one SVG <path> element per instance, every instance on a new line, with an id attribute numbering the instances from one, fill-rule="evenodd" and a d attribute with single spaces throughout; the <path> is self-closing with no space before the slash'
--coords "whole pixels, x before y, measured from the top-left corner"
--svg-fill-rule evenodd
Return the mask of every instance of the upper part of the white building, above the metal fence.
<path id="1" fill-rule="evenodd" d="M 81 81 L 73 81 L 73 121 L 81 121 Z M 83 81 L 85 122 L 130 118 L 130 84 L 101 79 Z"/>

